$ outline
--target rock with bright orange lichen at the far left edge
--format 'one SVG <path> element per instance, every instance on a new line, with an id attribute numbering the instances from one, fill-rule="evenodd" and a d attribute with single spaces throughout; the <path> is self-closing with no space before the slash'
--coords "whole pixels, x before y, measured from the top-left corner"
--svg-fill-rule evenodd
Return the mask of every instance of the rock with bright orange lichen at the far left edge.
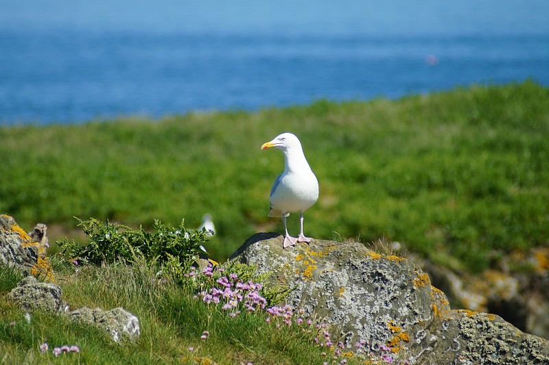
<path id="1" fill-rule="evenodd" d="M 15 266 L 34 276 L 42 275 L 47 281 L 54 281 L 54 271 L 46 255 L 46 231 L 46 225 L 38 223 L 27 234 L 14 218 L 0 215 L 0 266 Z"/>

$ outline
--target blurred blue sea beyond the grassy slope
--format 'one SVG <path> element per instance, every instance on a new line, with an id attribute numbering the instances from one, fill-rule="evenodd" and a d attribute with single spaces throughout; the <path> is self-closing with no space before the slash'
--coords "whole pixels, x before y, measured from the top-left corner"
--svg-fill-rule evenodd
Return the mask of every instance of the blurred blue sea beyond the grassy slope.
<path id="1" fill-rule="evenodd" d="M 0 125 L 549 86 L 547 0 L 1 0 Z"/>

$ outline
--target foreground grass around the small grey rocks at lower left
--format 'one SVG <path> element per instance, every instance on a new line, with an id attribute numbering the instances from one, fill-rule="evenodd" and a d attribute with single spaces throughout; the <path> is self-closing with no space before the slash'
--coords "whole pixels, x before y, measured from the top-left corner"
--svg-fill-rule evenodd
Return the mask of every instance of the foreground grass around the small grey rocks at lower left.
<path id="1" fill-rule="evenodd" d="M 7 364 L 322 364 L 325 348 L 314 344 L 314 325 L 277 329 L 267 314 L 243 312 L 231 318 L 195 292 L 168 280 L 159 282 L 143 261 L 132 266 L 68 267 L 54 257 L 56 279 L 71 307 L 122 306 L 139 318 L 141 336 L 117 344 L 106 333 L 67 318 L 36 312 L 30 322 L 5 294 L 16 285 L 10 270 L 0 271 L 0 362 Z M 10 285 L 8 285 L 11 283 Z M 200 339 L 209 331 L 206 340 Z M 40 353 L 47 342 L 49 351 Z M 52 349 L 76 345 L 80 353 L 54 357 Z M 189 352 L 189 347 L 194 351 Z M 329 352 L 329 351 L 328 351 Z M 331 351 L 333 354 L 333 350 Z M 354 360 L 354 359 L 353 359 Z M 358 364 L 358 360 L 350 364 Z"/>

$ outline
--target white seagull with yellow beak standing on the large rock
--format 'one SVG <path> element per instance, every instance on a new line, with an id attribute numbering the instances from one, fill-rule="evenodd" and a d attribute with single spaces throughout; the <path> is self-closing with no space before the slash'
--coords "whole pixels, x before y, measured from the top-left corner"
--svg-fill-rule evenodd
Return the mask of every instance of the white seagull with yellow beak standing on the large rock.
<path id="1" fill-rule="evenodd" d="M 270 142 L 266 142 L 261 149 L 276 147 L 284 153 L 284 171 L 281 173 L 270 190 L 269 216 L 281 216 L 284 222 L 285 237 L 282 247 L 295 246 L 296 242 L 311 242 L 312 238 L 303 234 L 303 212 L 311 207 L 318 199 L 318 181 L 305 159 L 301 142 L 291 133 L 283 133 Z M 288 234 L 286 217 L 290 212 L 299 212 L 301 231 L 294 238 Z"/>

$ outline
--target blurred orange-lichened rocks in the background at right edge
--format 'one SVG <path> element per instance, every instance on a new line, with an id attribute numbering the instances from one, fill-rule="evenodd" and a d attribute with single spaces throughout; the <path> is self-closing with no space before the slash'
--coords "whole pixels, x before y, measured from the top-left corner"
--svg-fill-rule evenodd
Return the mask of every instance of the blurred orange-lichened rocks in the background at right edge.
<path id="1" fill-rule="evenodd" d="M 452 305 L 498 314 L 521 331 L 549 339 L 549 247 L 511 253 L 481 273 L 457 273 L 417 254 L 413 260 Z"/>

